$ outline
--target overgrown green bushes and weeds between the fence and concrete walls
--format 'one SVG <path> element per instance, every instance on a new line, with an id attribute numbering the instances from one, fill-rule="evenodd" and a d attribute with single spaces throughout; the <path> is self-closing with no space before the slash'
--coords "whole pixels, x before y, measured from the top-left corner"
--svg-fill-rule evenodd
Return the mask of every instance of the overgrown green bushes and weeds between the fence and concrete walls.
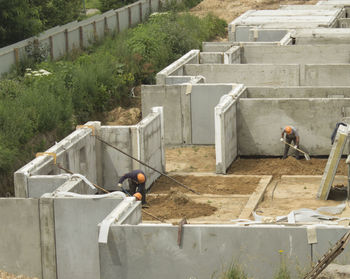
<path id="1" fill-rule="evenodd" d="M 59 140 L 99 113 L 128 106 L 131 88 L 153 83 L 162 68 L 226 33 L 226 22 L 215 16 L 170 8 L 61 61 L 45 61 L 45 47 L 28 46 L 28 59 L 0 80 L 0 196 L 13 194 L 13 172 L 46 150 L 43 135 Z M 27 68 L 51 74 L 35 76 Z"/>

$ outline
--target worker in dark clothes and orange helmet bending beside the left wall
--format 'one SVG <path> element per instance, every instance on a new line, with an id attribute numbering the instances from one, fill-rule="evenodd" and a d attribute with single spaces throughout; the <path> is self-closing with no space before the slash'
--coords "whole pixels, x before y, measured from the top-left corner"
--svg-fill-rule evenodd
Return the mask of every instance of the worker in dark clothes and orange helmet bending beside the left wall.
<path id="1" fill-rule="evenodd" d="M 132 172 L 124 174 L 118 182 L 118 186 L 123 189 L 123 182 L 129 179 L 129 194 L 134 196 L 135 193 L 142 195 L 142 205 L 146 207 L 146 175 L 142 170 L 133 170 Z M 135 196 L 137 198 L 137 196 Z"/>

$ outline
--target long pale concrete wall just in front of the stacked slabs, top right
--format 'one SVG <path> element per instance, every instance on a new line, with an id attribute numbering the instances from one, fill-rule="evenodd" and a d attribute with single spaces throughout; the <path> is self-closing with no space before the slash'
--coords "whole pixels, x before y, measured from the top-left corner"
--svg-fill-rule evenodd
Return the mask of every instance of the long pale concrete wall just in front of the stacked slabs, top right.
<path id="1" fill-rule="evenodd" d="M 242 63 L 337 64 L 350 62 L 349 45 L 244 46 Z"/>

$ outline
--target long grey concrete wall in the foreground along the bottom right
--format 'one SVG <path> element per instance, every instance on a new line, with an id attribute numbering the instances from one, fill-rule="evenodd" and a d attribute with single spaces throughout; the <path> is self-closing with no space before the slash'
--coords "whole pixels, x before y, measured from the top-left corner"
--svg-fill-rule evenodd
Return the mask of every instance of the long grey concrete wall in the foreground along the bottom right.
<path id="1" fill-rule="evenodd" d="M 249 278 L 268 279 L 276 275 L 282 258 L 292 278 L 299 278 L 310 269 L 311 250 L 314 256 L 316 251 L 322 254 L 346 231 L 318 227 L 317 243 L 310 245 L 306 227 L 184 225 L 178 246 L 178 226 L 112 225 L 108 243 L 100 246 L 101 279 L 115 274 L 121 278 L 212 278 L 233 263 Z M 349 256 L 347 246 L 336 262 L 346 263 Z"/>

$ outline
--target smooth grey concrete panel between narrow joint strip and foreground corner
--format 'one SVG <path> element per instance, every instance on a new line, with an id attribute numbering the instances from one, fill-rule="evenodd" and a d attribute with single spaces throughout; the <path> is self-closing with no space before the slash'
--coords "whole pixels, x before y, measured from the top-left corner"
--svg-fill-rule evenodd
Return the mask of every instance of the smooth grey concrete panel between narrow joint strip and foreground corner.
<path id="1" fill-rule="evenodd" d="M 98 228 L 120 198 L 56 198 L 55 238 L 57 278 L 99 278 Z"/>

